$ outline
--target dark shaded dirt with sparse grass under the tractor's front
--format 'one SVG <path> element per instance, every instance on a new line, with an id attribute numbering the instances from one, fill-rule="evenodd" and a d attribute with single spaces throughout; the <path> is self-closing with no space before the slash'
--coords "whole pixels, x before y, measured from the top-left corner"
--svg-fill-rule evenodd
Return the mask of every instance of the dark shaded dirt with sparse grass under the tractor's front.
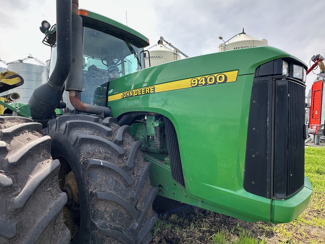
<path id="1" fill-rule="evenodd" d="M 188 214 L 185 218 L 177 214 L 165 214 L 159 217 L 153 228 L 154 237 L 150 243 L 212 243 L 214 234 L 218 232 L 224 232 L 227 238 L 236 240 L 242 229 L 252 231 L 252 237 L 261 238 L 262 231 L 255 230 L 253 226 L 253 223 L 208 210 L 201 210 L 197 215 Z"/>

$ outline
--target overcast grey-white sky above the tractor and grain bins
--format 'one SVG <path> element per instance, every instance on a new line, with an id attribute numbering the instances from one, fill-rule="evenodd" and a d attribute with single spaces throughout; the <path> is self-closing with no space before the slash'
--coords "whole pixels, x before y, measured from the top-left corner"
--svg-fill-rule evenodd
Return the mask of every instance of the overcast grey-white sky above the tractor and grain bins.
<path id="1" fill-rule="evenodd" d="M 45 62 L 50 47 L 42 44 L 42 20 L 56 22 L 54 0 L 0 0 L 0 59 L 10 62 L 29 54 Z M 150 46 L 160 36 L 189 56 L 213 53 L 221 41 L 245 28 L 258 39 L 309 65 L 314 54 L 325 56 L 325 1 L 305 0 L 79 0 L 79 8 L 105 15 L 147 36 Z M 0 67 L 5 67 L 0 62 Z M 315 71 L 318 73 L 319 69 Z M 307 75 L 308 91 L 315 79 Z"/>

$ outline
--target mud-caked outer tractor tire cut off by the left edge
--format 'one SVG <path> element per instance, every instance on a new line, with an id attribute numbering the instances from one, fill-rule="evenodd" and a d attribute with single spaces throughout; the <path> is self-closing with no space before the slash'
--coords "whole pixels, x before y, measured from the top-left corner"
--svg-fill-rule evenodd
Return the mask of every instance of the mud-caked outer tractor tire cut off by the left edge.
<path id="1" fill-rule="evenodd" d="M 70 231 L 51 138 L 31 119 L 0 116 L 0 243 L 65 244 Z"/>

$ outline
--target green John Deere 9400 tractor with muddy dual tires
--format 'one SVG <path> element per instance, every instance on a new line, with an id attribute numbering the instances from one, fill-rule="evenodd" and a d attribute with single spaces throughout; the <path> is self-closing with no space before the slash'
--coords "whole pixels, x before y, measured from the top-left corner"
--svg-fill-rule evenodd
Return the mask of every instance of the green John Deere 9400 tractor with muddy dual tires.
<path id="1" fill-rule="evenodd" d="M 71 0 L 41 31 L 48 81 L 0 116 L 0 243 L 149 243 L 156 196 L 249 222 L 305 210 L 305 63 L 254 47 L 144 68 L 145 36 Z"/>

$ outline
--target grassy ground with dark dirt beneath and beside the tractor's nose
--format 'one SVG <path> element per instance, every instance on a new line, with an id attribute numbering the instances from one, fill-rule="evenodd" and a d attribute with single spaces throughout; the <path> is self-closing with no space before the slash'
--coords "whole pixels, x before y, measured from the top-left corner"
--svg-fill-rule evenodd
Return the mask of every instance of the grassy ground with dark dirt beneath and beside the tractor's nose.
<path id="1" fill-rule="evenodd" d="M 248 223 L 211 211 L 187 218 L 164 215 L 153 228 L 151 243 L 325 244 L 325 148 L 305 148 L 305 175 L 313 186 L 312 198 L 291 223 Z"/>

